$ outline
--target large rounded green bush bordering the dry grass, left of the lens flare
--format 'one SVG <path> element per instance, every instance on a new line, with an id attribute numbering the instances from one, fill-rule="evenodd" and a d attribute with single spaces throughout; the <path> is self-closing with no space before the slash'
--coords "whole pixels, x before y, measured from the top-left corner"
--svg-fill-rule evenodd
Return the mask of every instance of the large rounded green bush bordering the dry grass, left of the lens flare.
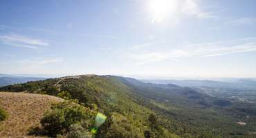
<path id="1" fill-rule="evenodd" d="M 72 124 L 80 123 L 82 120 L 91 120 L 95 115 L 73 101 L 56 103 L 51 110 L 45 112 L 40 123 L 48 135 L 56 136 L 68 132 Z"/>

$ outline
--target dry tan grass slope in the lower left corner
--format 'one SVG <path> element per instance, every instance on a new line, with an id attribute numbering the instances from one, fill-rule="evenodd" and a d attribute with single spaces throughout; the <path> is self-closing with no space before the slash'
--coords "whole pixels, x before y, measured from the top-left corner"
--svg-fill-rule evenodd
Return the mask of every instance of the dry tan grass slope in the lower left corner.
<path id="1" fill-rule="evenodd" d="M 62 99 L 23 92 L 0 92 L 0 107 L 8 112 L 8 119 L 0 122 L 0 137 L 29 136 L 28 130 L 39 126 L 39 120 L 51 103 Z"/>

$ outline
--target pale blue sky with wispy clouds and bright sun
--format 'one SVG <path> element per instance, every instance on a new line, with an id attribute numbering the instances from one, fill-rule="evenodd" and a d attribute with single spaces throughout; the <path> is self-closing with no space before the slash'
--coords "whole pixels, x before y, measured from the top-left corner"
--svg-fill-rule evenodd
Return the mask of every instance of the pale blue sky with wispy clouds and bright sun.
<path id="1" fill-rule="evenodd" d="M 256 77 L 254 0 L 2 0 L 0 73 Z"/>

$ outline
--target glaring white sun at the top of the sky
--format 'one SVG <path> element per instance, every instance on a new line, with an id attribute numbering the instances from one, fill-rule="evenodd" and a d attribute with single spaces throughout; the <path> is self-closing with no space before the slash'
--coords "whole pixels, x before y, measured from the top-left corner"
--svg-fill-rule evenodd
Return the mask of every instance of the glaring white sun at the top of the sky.
<path id="1" fill-rule="evenodd" d="M 153 19 L 152 23 L 160 22 L 167 17 L 172 16 L 176 11 L 176 0 L 149 0 L 147 7 L 151 12 Z"/>

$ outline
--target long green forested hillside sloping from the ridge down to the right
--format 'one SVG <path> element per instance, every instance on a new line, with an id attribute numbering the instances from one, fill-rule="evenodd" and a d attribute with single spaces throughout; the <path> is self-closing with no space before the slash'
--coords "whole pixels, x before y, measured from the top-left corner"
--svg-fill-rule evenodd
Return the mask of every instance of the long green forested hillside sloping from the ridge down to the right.
<path id="1" fill-rule="evenodd" d="M 80 75 L 19 83 L 0 91 L 77 99 L 80 105 L 107 116 L 95 137 L 255 137 L 255 105 L 172 84 Z"/>

